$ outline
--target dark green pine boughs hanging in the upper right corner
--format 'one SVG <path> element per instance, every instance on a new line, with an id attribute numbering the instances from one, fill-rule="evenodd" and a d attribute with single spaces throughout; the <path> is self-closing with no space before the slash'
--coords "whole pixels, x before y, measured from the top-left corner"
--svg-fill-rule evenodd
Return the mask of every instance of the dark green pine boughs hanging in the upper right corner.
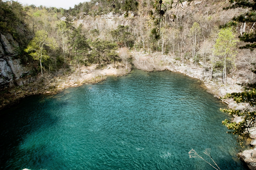
<path id="1" fill-rule="evenodd" d="M 229 2 L 232 4 L 224 10 L 229 9 L 235 9 L 235 8 L 244 8 L 248 9 L 247 12 L 244 12 L 243 14 L 239 16 L 233 17 L 233 22 L 227 23 L 225 26 L 233 26 L 237 25 L 238 23 L 248 23 L 249 25 L 253 25 L 253 23 L 256 22 L 256 1 L 249 1 L 249 0 L 229 0 Z M 239 36 L 241 41 L 248 42 L 245 46 L 242 46 L 240 48 L 249 48 L 251 50 L 256 48 L 256 34 L 254 33 L 243 33 L 242 36 Z"/>

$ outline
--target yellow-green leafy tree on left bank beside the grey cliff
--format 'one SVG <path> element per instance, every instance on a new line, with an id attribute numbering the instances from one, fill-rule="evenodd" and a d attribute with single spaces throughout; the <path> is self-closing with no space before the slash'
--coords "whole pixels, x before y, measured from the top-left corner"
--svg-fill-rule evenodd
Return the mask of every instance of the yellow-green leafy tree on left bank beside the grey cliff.
<path id="1" fill-rule="evenodd" d="M 27 48 L 25 49 L 25 52 L 29 53 L 29 55 L 31 55 L 34 60 L 39 60 L 42 77 L 42 62 L 46 61 L 50 57 L 47 52 L 47 47 L 55 49 L 55 40 L 53 38 L 49 38 L 46 31 L 38 30 L 33 40 L 29 42 Z"/>

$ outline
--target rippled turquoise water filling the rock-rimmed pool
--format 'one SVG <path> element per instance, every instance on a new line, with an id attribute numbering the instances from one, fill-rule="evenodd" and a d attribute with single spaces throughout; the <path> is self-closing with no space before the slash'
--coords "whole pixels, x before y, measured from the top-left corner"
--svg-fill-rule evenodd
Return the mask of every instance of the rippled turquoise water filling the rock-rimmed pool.
<path id="1" fill-rule="evenodd" d="M 192 148 L 201 156 L 211 148 L 221 170 L 246 169 L 221 124 L 225 106 L 199 85 L 178 73 L 135 70 L 26 98 L 1 111 L 0 169 L 213 169 L 190 159 Z"/>

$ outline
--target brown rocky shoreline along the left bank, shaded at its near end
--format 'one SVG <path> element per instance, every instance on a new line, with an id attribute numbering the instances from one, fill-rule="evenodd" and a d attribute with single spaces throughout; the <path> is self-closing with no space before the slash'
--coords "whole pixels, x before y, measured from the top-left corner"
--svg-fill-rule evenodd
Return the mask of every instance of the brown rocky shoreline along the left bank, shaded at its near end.
<path id="1" fill-rule="evenodd" d="M 40 75 L 35 78 L 35 81 L 14 88 L 5 88 L 2 90 L 0 96 L 0 110 L 3 108 L 11 107 L 19 103 L 30 95 L 53 95 L 58 92 L 69 88 L 77 87 L 84 84 L 93 84 L 103 81 L 107 76 L 121 76 L 129 73 L 131 70 L 124 69 L 120 65 L 119 69 L 113 68 L 112 65 L 106 66 L 105 69 L 96 69 L 97 65 L 82 67 L 81 74 L 78 69 L 73 73 L 66 75 L 65 71 L 55 75 L 48 75 L 47 78 L 41 78 Z"/>

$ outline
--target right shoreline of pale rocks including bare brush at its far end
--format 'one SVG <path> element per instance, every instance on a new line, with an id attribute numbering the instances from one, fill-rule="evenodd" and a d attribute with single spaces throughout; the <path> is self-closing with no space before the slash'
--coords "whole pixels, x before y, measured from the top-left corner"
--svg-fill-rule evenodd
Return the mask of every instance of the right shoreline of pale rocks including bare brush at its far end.
<path id="1" fill-rule="evenodd" d="M 173 72 L 179 72 L 184 75 L 187 75 L 191 78 L 196 78 L 202 81 L 203 88 L 213 94 L 215 97 L 220 99 L 223 103 L 227 104 L 227 107 L 231 109 L 252 109 L 256 110 L 256 108 L 250 108 L 250 106 L 246 103 L 237 104 L 233 99 L 223 99 L 223 97 L 227 93 L 232 92 L 243 92 L 244 87 L 240 84 L 249 83 L 249 80 L 233 75 L 232 77 L 227 78 L 227 83 L 224 84 L 222 82 L 221 73 L 215 73 L 213 75 L 213 79 L 210 79 L 210 73 L 208 71 L 208 66 L 204 65 L 204 63 L 198 63 L 198 65 L 191 64 L 193 62 L 189 62 L 185 64 L 181 61 L 176 61 L 174 59 L 167 60 L 165 62 L 169 63 L 167 66 L 160 66 L 160 64 L 156 65 L 158 61 L 161 59 L 164 60 L 164 55 L 162 55 L 161 59 L 159 59 L 160 55 L 152 55 L 151 58 L 142 53 L 133 54 L 136 61 L 134 61 L 134 65 L 141 70 L 152 71 L 152 70 L 169 70 Z M 152 59 L 153 58 L 153 59 Z M 242 121 L 242 117 L 235 117 L 232 121 L 240 122 Z M 238 153 L 237 156 L 239 159 L 242 159 L 246 165 L 252 169 L 256 170 L 256 130 L 252 129 L 250 134 L 250 139 L 246 141 L 246 144 L 251 146 L 250 150 L 245 150 L 241 153 Z"/>

